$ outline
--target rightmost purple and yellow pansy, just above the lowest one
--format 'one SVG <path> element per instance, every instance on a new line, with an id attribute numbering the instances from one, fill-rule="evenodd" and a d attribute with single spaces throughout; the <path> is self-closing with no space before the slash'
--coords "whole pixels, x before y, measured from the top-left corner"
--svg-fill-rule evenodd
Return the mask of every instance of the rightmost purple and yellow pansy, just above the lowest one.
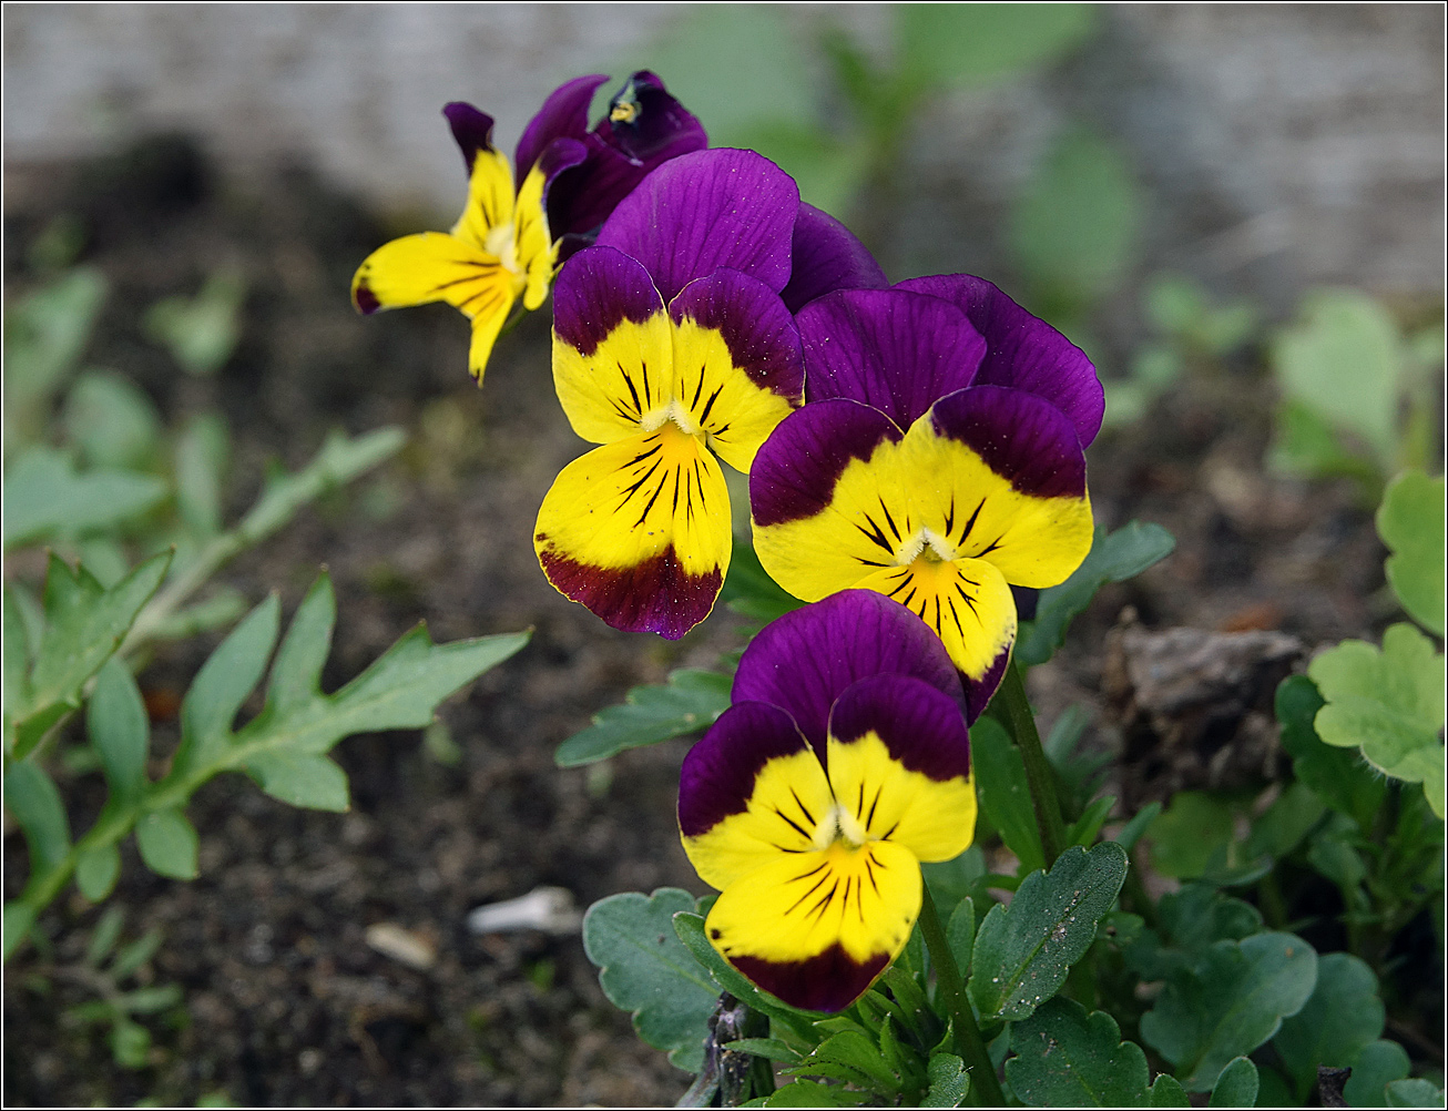
<path id="1" fill-rule="evenodd" d="M 862 587 L 914 610 L 975 720 L 1015 642 L 1011 585 L 1056 585 L 1090 550 L 1095 369 L 963 275 L 831 293 L 798 327 L 809 404 L 750 474 L 759 559 L 805 601 Z"/>

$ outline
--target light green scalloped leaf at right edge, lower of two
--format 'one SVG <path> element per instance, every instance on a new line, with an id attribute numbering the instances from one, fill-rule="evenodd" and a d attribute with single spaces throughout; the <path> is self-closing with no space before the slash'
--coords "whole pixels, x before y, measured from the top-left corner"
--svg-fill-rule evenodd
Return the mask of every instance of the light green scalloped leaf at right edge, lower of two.
<path id="1" fill-rule="evenodd" d="M 1384 775 L 1422 782 L 1444 817 L 1444 658 L 1410 624 L 1390 626 L 1383 649 L 1344 640 L 1316 656 L 1308 675 L 1326 700 L 1313 726 L 1338 747 L 1361 747 Z"/>

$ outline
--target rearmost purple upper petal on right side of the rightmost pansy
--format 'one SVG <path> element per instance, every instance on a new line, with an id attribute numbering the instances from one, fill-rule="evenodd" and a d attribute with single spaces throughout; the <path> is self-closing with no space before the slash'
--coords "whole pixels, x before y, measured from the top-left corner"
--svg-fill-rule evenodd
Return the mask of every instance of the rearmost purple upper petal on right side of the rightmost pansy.
<path id="1" fill-rule="evenodd" d="M 1100 432 L 1106 398 L 1086 352 L 1031 316 L 985 278 L 941 274 L 895 287 L 941 297 L 964 310 L 986 339 L 976 385 L 1008 385 L 1038 394 L 1076 426 L 1083 448 Z"/>

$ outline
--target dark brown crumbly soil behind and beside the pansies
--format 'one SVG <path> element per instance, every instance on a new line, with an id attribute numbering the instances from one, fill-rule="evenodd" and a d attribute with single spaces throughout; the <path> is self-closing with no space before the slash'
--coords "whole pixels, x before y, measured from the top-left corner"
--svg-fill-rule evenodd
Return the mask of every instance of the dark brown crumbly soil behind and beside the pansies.
<path id="1" fill-rule="evenodd" d="M 83 259 L 113 293 L 90 359 L 133 377 L 169 422 L 219 406 L 235 439 L 235 517 L 266 459 L 304 464 L 329 427 L 404 426 L 403 455 L 304 511 L 219 579 L 291 611 L 320 565 L 339 623 L 326 682 L 336 687 L 418 619 L 437 640 L 533 627 L 530 645 L 442 710 L 460 749 L 437 759 L 418 733 L 345 740 L 334 756 L 352 810 L 292 810 L 240 776 L 213 781 L 190 814 L 201 876 L 153 876 L 127 846 L 109 901 L 127 936 L 159 927 L 146 976 L 180 984 L 184 1008 L 151 1020 L 152 1062 L 116 1066 L 101 1033 L 64 1011 L 85 992 L 78 963 L 101 908 L 64 895 L 41 927 L 54 957 L 17 956 L 4 981 L 7 1105 L 194 1104 L 224 1091 L 255 1105 L 672 1104 L 688 1076 L 640 1043 L 602 997 L 576 933 L 465 928 L 472 907 L 537 885 L 582 908 L 617 891 L 676 885 L 702 894 L 678 843 L 673 800 L 683 740 L 605 768 L 559 771 L 557 743 L 630 685 L 679 665 L 712 666 L 738 647 L 738 619 L 715 613 L 682 642 L 617 633 L 543 579 L 529 536 L 544 491 L 582 443 L 553 400 L 546 313 L 500 343 L 482 390 L 465 372 L 466 326 L 446 307 L 358 317 L 356 264 L 392 235 L 304 171 L 248 191 L 213 180 L 180 141 L 104 162 L 14 172 L 7 183 L 6 272 L 49 217 L 74 213 Z M 145 339 L 143 310 L 193 293 L 219 264 L 245 272 L 243 339 L 211 380 L 180 374 Z M 1271 629 L 1309 647 L 1373 634 L 1384 556 L 1348 484 L 1264 474 L 1270 387 L 1261 359 L 1193 375 L 1140 424 L 1092 448 L 1099 520 L 1153 520 L 1177 550 L 1108 587 L 1067 647 L 1032 672 L 1044 724 L 1070 703 L 1100 707 L 1102 645 L 1124 607 L 1147 627 Z M 7 574 L 30 574 L 25 559 Z M 175 695 L 219 634 L 165 647 L 143 672 L 155 749 L 175 743 Z M 167 698 L 167 695 L 171 695 Z M 1093 726 L 1086 743 L 1116 743 Z M 62 782 L 72 827 L 101 802 L 94 776 Z M 23 884 L 22 839 L 7 834 L 6 894 Z M 417 970 L 372 949 L 392 923 L 436 952 Z M 43 978 L 48 989 L 41 991 Z"/>

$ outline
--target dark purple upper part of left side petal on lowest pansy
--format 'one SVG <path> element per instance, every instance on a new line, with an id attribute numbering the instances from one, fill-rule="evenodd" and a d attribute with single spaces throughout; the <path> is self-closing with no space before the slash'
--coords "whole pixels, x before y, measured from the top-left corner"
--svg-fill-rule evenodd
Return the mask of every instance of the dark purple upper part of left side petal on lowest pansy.
<path id="1" fill-rule="evenodd" d="M 808 747 L 799 726 L 778 705 L 736 703 L 683 758 L 679 830 L 699 837 L 730 814 L 743 814 L 760 769 Z"/>

